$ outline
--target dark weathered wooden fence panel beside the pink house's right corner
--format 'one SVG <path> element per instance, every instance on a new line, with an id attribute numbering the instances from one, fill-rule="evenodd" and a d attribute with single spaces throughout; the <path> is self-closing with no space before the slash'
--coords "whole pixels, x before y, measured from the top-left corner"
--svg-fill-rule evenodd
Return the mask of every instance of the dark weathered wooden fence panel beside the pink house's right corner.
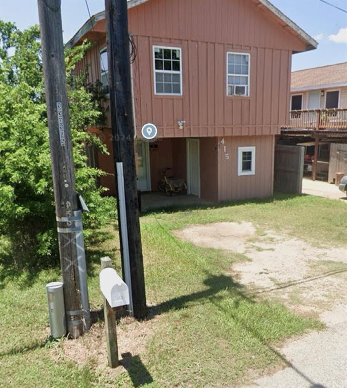
<path id="1" fill-rule="evenodd" d="M 303 156 L 305 149 L 300 146 L 275 147 L 274 190 L 301 194 Z"/>

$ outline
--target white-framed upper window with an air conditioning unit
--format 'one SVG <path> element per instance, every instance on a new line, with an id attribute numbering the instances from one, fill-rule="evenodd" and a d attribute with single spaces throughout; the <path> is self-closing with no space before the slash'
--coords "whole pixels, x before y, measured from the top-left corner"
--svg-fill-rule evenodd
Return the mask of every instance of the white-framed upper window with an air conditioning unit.
<path id="1" fill-rule="evenodd" d="M 227 53 L 227 95 L 249 95 L 249 54 Z"/>

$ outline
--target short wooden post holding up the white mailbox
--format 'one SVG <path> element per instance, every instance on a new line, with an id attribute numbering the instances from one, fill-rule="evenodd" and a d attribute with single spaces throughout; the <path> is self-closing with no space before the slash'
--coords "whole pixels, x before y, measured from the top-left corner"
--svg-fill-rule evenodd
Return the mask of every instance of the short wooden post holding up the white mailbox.
<path id="1" fill-rule="evenodd" d="M 112 260 L 109 257 L 101 259 L 101 269 L 112 268 Z M 117 324 L 116 311 L 112 309 L 110 304 L 104 297 L 104 320 L 106 331 L 106 348 L 108 365 L 110 368 L 115 368 L 119 364 L 118 360 L 118 344 L 117 344 Z"/>

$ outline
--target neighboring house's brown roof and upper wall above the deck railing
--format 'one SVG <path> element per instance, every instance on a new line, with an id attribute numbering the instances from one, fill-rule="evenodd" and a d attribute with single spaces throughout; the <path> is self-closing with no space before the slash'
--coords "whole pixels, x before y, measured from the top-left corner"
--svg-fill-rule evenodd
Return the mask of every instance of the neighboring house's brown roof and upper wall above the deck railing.
<path id="1" fill-rule="evenodd" d="M 291 73 L 290 110 L 347 108 L 347 62 Z"/>

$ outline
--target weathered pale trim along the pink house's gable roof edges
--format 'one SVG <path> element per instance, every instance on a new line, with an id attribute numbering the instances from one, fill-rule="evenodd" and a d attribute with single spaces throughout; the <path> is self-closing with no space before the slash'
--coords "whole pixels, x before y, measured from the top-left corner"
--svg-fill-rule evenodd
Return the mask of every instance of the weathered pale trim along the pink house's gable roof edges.
<path id="1" fill-rule="evenodd" d="M 128 9 L 139 6 L 140 4 L 147 3 L 150 0 L 127 0 Z M 279 9 L 272 5 L 268 0 L 250 0 L 261 10 L 268 10 L 272 16 L 279 22 L 284 28 L 287 28 L 293 35 L 304 41 L 307 46 L 307 51 L 317 48 L 318 43 L 307 32 L 290 20 Z M 83 26 L 75 33 L 75 35 L 66 43 L 66 47 L 70 48 L 75 45 L 88 31 L 93 29 L 99 20 L 105 19 L 105 11 L 99 12 L 93 15 Z"/>

